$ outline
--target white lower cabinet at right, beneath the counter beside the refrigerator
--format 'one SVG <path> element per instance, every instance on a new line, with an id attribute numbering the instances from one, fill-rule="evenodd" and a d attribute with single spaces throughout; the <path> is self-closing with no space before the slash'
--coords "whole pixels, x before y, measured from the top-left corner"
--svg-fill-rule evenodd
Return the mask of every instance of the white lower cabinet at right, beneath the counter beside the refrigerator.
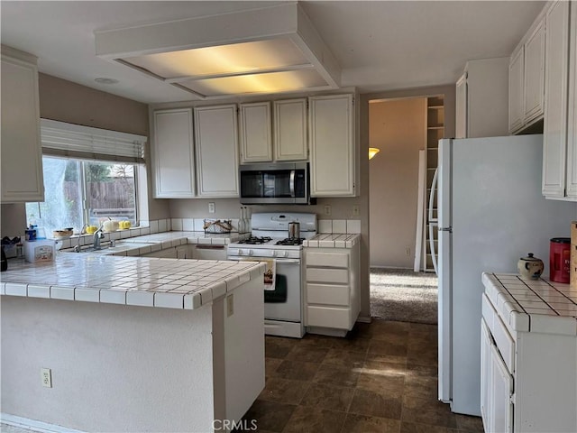
<path id="1" fill-rule="evenodd" d="M 481 417 L 485 431 L 577 431 L 575 331 L 566 335 L 551 327 L 548 332 L 538 332 L 532 325 L 527 331 L 516 330 L 522 315 L 501 313 L 506 307 L 496 307 L 490 299 L 504 299 L 505 295 L 490 296 L 486 292 L 481 299 Z M 540 325 L 536 315 L 531 319 L 535 326 Z M 566 324 L 566 319 L 574 323 L 574 318 L 558 319 L 560 325 Z"/>

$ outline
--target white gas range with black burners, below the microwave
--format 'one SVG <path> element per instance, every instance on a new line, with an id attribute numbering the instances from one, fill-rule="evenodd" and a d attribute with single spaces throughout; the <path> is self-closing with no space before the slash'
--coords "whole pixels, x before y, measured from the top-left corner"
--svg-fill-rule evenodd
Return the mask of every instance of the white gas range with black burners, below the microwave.
<path id="1" fill-rule="evenodd" d="M 298 222 L 299 238 L 289 237 L 289 224 Z M 275 282 L 264 290 L 264 332 L 271 336 L 305 335 L 302 312 L 303 240 L 316 235 L 316 214 L 254 213 L 251 237 L 229 244 L 227 260 L 270 261 Z"/>

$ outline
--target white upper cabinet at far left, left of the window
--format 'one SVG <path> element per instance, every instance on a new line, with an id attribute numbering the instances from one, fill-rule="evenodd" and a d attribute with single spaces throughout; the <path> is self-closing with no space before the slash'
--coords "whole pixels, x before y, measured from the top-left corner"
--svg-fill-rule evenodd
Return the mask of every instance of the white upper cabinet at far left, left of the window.
<path id="1" fill-rule="evenodd" d="M 3 46 L 1 75 L 1 201 L 44 201 L 36 58 Z"/>

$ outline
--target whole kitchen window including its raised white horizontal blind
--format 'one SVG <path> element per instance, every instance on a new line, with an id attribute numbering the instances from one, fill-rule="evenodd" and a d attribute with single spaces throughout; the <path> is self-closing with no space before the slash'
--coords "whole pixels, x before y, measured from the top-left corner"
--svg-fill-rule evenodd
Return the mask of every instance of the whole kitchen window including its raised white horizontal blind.
<path id="1" fill-rule="evenodd" d="M 138 224 L 146 137 L 41 119 L 41 142 L 45 201 L 26 204 L 27 225 L 50 234 L 108 218 Z"/>

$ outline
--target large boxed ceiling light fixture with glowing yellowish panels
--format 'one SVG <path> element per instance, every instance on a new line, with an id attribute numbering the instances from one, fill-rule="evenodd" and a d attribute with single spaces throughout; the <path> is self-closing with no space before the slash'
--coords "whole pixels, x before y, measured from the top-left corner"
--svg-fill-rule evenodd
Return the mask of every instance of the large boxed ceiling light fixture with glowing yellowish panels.
<path id="1" fill-rule="evenodd" d="M 95 32 L 96 54 L 200 99 L 339 87 L 340 68 L 297 3 Z"/>

